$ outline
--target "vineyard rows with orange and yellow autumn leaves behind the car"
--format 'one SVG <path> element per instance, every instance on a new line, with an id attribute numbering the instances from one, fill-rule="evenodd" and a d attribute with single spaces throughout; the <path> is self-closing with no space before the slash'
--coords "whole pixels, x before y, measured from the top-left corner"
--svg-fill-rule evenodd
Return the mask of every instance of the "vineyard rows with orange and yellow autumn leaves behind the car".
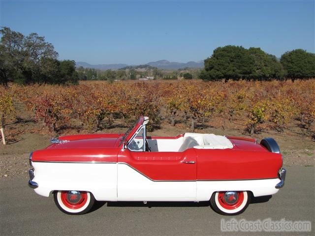
<path id="1" fill-rule="evenodd" d="M 288 124 L 314 134 L 315 80 L 105 82 L 11 86 L 6 90 L 53 132 L 73 127 L 74 122 L 97 131 L 101 124 L 110 126 L 115 120 L 125 124 L 145 115 L 151 119 L 151 130 L 161 120 L 194 130 L 219 119 L 223 120 L 221 127 L 237 121 L 251 135 L 261 129 L 283 132 Z"/>

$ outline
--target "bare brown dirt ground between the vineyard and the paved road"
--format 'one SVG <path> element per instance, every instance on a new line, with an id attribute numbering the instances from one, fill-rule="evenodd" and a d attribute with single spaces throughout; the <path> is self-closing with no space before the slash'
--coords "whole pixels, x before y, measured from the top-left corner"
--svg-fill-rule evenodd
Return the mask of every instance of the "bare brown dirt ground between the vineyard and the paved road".
<path id="1" fill-rule="evenodd" d="M 214 133 L 218 135 L 250 137 L 240 129 L 237 121 L 232 121 L 224 125 L 220 120 L 211 120 L 206 125 L 197 126 L 195 133 Z M 215 127 L 215 124 L 216 127 Z M 120 120 L 116 120 L 111 127 L 105 128 L 99 133 L 125 133 L 128 126 L 123 125 Z M 87 133 L 80 130 L 80 133 Z M 189 123 L 177 123 L 175 127 L 169 124 L 168 120 L 162 120 L 160 129 L 148 133 L 149 136 L 176 136 L 185 132 L 191 132 Z M 55 135 L 50 134 L 42 122 L 35 122 L 31 114 L 20 113 L 14 122 L 6 126 L 8 144 L 0 143 L 0 178 L 28 177 L 29 154 L 33 150 L 42 149 L 50 144 L 50 138 Z M 60 135 L 75 134 L 77 130 L 63 130 Z M 301 130 L 285 129 L 283 133 L 276 131 L 263 131 L 254 134 L 252 138 L 261 140 L 264 137 L 274 138 L 284 155 L 284 165 L 292 166 L 314 166 L 315 165 L 315 142 L 303 134 Z"/>

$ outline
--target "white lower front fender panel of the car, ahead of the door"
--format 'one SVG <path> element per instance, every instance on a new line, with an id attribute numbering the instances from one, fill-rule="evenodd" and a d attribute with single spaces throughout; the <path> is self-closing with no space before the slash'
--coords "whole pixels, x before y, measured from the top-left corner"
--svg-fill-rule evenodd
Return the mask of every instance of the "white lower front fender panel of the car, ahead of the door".
<path id="1" fill-rule="evenodd" d="M 117 201 L 117 163 L 32 162 L 34 189 L 48 197 L 54 190 L 93 193 L 97 201 Z"/>

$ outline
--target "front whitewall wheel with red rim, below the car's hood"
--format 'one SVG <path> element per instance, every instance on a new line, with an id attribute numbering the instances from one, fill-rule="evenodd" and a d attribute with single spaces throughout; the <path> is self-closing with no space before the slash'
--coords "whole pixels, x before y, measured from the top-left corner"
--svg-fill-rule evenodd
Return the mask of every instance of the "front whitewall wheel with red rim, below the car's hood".
<path id="1" fill-rule="evenodd" d="M 54 200 L 57 207 L 66 214 L 81 215 L 87 213 L 95 202 L 94 196 L 86 191 L 56 191 Z"/>

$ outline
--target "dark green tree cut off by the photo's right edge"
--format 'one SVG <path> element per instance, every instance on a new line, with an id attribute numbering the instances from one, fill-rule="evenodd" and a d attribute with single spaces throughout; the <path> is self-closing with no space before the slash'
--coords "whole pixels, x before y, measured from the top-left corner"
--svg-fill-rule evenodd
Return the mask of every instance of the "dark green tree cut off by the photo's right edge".
<path id="1" fill-rule="evenodd" d="M 287 76 L 294 82 L 296 79 L 315 77 L 315 54 L 303 49 L 295 49 L 281 56 L 280 62 L 287 71 Z"/>

